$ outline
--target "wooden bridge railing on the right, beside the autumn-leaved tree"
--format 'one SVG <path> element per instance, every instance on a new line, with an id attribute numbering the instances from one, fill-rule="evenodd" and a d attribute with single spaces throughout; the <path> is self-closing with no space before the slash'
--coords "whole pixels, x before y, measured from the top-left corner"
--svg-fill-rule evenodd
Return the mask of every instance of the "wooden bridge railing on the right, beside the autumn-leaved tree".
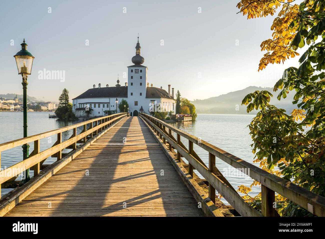
<path id="1" fill-rule="evenodd" d="M 275 192 L 288 198 L 292 202 L 305 208 L 316 216 L 325 216 L 325 198 L 312 193 L 290 181 L 282 179 L 274 174 L 250 164 L 218 147 L 179 130 L 162 120 L 148 114 L 139 114 L 152 130 L 169 145 L 169 150 L 177 150 L 177 159 L 181 157 L 188 160 L 189 174 L 193 176 L 193 169 L 196 169 L 209 183 L 209 197 L 215 202 L 215 190 L 217 190 L 232 205 L 241 216 L 268 216 L 275 217 L 279 214 L 275 210 Z M 176 133 L 177 139 L 172 132 Z M 188 149 L 181 141 L 181 137 L 188 140 Z M 201 158 L 193 150 L 193 143 L 200 146 L 209 153 L 209 165 L 206 166 Z M 243 200 L 227 179 L 221 174 L 215 165 L 215 157 L 227 164 L 239 169 L 252 179 L 261 183 L 262 190 L 262 213 L 255 210 Z"/>

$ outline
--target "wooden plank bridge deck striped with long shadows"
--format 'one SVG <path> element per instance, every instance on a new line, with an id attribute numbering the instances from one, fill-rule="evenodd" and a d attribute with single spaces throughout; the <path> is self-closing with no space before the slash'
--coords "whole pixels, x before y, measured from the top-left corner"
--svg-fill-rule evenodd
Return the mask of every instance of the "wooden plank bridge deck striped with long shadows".
<path id="1" fill-rule="evenodd" d="M 149 128 L 126 117 L 5 216 L 204 214 Z"/>

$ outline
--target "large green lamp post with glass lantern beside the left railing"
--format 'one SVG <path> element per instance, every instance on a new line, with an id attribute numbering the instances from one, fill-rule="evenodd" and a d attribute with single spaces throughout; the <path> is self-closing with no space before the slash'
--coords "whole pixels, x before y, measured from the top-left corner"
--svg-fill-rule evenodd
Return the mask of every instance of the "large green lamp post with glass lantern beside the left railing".
<path id="1" fill-rule="evenodd" d="M 32 73 L 32 65 L 34 57 L 27 50 L 27 44 L 25 39 L 23 43 L 20 44 L 21 50 L 14 55 L 16 59 L 18 74 L 22 76 L 22 89 L 23 89 L 23 128 L 24 128 L 24 138 L 27 137 L 27 75 Z M 23 160 L 27 159 L 29 156 L 29 145 L 24 144 L 22 147 Z M 21 183 L 26 183 L 30 180 L 29 177 L 29 168 L 24 171 L 24 178 Z"/>

